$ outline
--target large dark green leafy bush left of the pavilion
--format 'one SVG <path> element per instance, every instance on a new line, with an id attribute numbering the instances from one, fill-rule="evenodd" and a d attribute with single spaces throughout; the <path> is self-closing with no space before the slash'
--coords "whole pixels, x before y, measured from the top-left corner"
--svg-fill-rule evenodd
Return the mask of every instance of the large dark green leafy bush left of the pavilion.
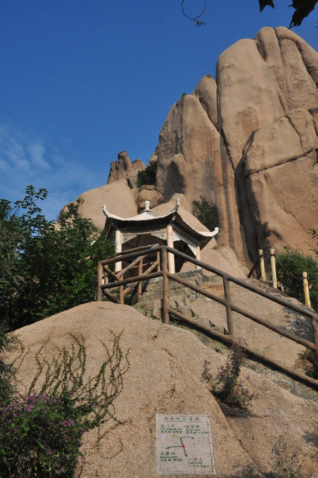
<path id="1" fill-rule="evenodd" d="M 0 200 L 0 317 L 11 328 L 94 300 L 97 262 L 114 253 L 77 207 L 55 230 L 37 206 L 46 197 L 31 185 L 22 201 Z"/>

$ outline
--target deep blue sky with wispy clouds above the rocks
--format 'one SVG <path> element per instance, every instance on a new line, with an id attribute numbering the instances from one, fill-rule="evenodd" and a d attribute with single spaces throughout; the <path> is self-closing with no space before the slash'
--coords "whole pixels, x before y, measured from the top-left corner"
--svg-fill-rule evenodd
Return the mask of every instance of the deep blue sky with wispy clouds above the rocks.
<path id="1" fill-rule="evenodd" d="M 0 4 L 0 197 L 45 187 L 49 219 L 106 184 L 125 150 L 148 162 L 170 107 L 222 51 L 289 25 L 291 0 L 207 0 L 198 28 L 181 0 L 16 0 Z M 197 12 L 204 0 L 186 0 Z M 311 13 L 294 31 L 318 50 Z"/>

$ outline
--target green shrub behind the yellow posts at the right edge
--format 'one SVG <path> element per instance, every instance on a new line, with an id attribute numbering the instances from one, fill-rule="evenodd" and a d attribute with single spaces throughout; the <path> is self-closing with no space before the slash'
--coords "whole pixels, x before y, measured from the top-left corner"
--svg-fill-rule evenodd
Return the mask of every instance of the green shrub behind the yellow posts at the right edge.
<path id="1" fill-rule="evenodd" d="M 277 281 L 284 287 L 284 292 L 305 303 L 302 273 L 307 272 L 309 280 L 318 286 L 317 260 L 301 250 L 291 251 L 284 248 L 277 254 L 276 275 Z M 311 287 L 309 285 L 309 287 Z M 318 289 L 314 286 L 309 290 L 311 306 L 318 311 Z"/>

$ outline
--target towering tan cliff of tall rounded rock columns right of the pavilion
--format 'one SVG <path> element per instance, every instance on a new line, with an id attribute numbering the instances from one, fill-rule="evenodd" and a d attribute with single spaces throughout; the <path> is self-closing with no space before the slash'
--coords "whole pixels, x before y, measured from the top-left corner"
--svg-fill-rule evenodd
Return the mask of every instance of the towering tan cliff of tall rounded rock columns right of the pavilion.
<path id="1" fill-rule="evenodd" d="M 216 202 L 218 243 L 249 268 L 259 249 L 308 250 L 306 228 L 317 217 L 317 83 L 318 53 L 284 27 L 265 27 L 225 50 L 216 83 L 204 76 L 160 131 L 157 184 L 165 201 L 182 193 L 190 208 L 200 195 Z M 308 168 L 302 173 L 300 163 Z M 287 177 L 296 171 L 297 182 Z"/>

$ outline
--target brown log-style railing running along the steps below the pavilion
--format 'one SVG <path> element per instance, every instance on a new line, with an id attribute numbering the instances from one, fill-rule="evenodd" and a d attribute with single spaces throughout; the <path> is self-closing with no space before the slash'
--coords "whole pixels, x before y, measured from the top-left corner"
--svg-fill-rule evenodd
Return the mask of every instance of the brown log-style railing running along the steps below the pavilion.
<path id="1" fill-rule="evenodd" d="M 139 274 L 138 276 L 129 277 L 127 279 L 121 279 L 121 280 L 117 280 L 115 282 L 110 282 L 110 283 L 105 283 L 105 284 L 101 283 L 103 266 L 106 266 L 108 264 L 113 264 L 115 262 L 119 262 L 119 261 L 122 261 L 122 260 L 127 261 L 127 259 L 133 259 L 135 257 L 140 258 L 141 256 L 139 256 L 139 254 L 140 254 L 141 250 L 144 250 L 145 252 L 147 251 L 147 253 L 145 255 L 143 255 L 143 257 L 145 257 L 148 254 L 153 254 L 155 252 L 158 253 L 160 251 L 161 254 L 162 254 L 162 271 L 157 271 L 157 272 L 152 272 L 152 273 L 147 273 L 147 271 L 146 271 L 145 274 Z M 168 267 L 167 267 L 168 252 L 170 252 L 174 255 L 178 255 L 178 256 L 184 258 L 186 261 L 191 262 L 191 263 L 199 266 L 202 269 L 205 269 L 209 272 L 213 272 L 213 273 L 217 274 L 218 276 L 222 277 L 223 278 L 223 288 L 224 288 L 224 296 L 225 297 L 224 298 L 219 297 L 219 296 L 217 296 L 217 295 L 215 295 L 211 292 L 206 291 L 203 288 L 198 287 L 197 285 L 193 284 L 192 282 L 188 282 L 188 281 L 184 280 L 183 278 L 178 277 L 176 274 L 170 273 L 168 271 Z M 142 259 L 143 259 L 143 257 L 142 257 Z M 159 255 L 157 257 L 159 257 Z M 141 263 L 142 263 L 142 261 L 141 261 Z M 115 276 L 115 274 L 110 272 L 110 270 L 107 267 L 105 267 L 105 269 L 107 269 L 107 272 L 110 273 L 111 276 Z M 141 269 L 140 269 L 140 272 L 141 272 Z M 175 315 L 177 318 L 179 318 L 181 320 L 184 320 L 184 321 L 187 321 L 189 324 L 195 325 L 198 330 L 200 329 L 204 333 L 207 333 L 207 331 L 208 331 L 208 335 L 210 335 L 212 337 L 215 337 L 215 338 L 219 338 L 227 344 L 234 343 L 234 342 L 237 343 L 237 339 L 235 338 L 234 332 L 233 332 L 233 323 L 232 323 L 232 317 L 231 317 L 231 313 L 232 313 L 232 311 L 234 311 L 234 312 L 237 312 L 238 314 L 244 315 L 245 317 L 249 318 L 250 320 L 253 320 L 256 323 L 259 323 L 259 324 L 273 330 L 277 334 L 285 336 L 286 338 L 288 338 L 290 340 L 293 340 L 294 342 L 299 343 L 299 344 L 303 345 L 304 347 L 309 348 L 310 350 L 314 350 L 316 352 L 317 356 L 318 356 L 318 314 L 314 310 L 308 310 L 309 309 L 308 307 L 306 307 L 306 309 L 305 309 L 305 307 L 303 308 L 303 307 L 300 307 L 296 304 L 292 304 L 291 302 L 287 301 L 286 299 L 284 299 L 282 297 L 277 296 L 274 293 L 267 292 L 267 291 L 255 286 L 254 284 L 246 282 L 244 279 L 239 279 L 237 277 L 233 277 L 230 274 L 228 274 L 227 272 L 220 271 L 219 269 L 217 269 L 217 268 L 215 268 L 215 267 L 213 267 L 213 266 L 211 266 L 211 265 L 209 265 L 205 262 L 198 261 L 197 259 L 192 258 L 192 257 L 184 254 L 183 252 L 180 252 L 179 250 L 170 248 L 170 247 L 165 246 L 165 245 L 158 246 L 157 244 L 154 244 L 153 246 L 150 246 L 148 248 L 147 247 L 136 248 L 133 252 L 131 252 L 129 254 L 128 253 L 127 254 L 121 254 L 119 256 L 107 259 L 105 261 L 99 261 L 99 263 L 98 263 L 98 300 L 102 300 L 102 295 L 101 294 L 104 293 L 107 297 L 110 298 L 110 300 L 113 300 L 113 302 L 123 304 L 123 294 L 121 295 L 121 293 L 120 293 L 120 299 L 122 297 L 122 301 L 121 300 L 118 301 L 118 299 L 115 298 L 110 292 L 108 292 L 107 289 L 113 288 L 114 286 L 115 287 L 120 287 L 121 289 L 123 289 L 123 286 L 126 285 L 126 284 L 141 284 L 142 281 L 154 279 L 154 278 L 157 278 L 157 277 L 163 277 L 163 313 L 164 313 L 164 323 L 166 323 L 166 324 L 169 324 L 169 314 Z M 213 300 L 215 300 L 215 301 L 219 302 L 220 304 L 224 305 L 226 307 L 226 315 L 227 315 L 229 335 L 223 336 L 222 334 L 219 334 L 216 331 L 213 331 L 213 329 L 209 329 L 208 327 L 203 326 L 202 324 L 199 324 L 196 320 L 190 319 L 190 318 L 186 317 L 185 315 L 175 311 L 174 309 L 171 309 L 170 305 L 169 305 L 169 299 L 168 299 L 168 282 L 169 282 L 169 279 L 172 279 L 175 282 L 179 282 L 182 285 L 184 285 L 184 286 L 186 286 L 186 287 L 188 287 L 188 288 L 190 288 L 190 289 L 192 289 L 192 290 L 194 290 L 198 293 L 201 293 L 202 295 L 210 297 Z M 288 309 L 290 309 L 294 312 L 297 312 L 301 315 L 305 315 L 306 317 L 310 318 L 311 321 L 312 321 L 314 342 L 311 342 L 307 339 L 299 337 L 296 334 L 293 334 L 292 332 L 288 332 L 285 329 L 283 329 L 282 327 L 275 326 L 271 322 L 269 322 L 265 319 L 262 319 L 261 317 L 255 315 L 255 314 L 249 313 L 248 311 L 245 311 L 244 309 L 241 309 L 241 307 L 238 307 L 235 304 L 232 304 L 231 299 L 230 299 L 229 282 L 233 282 L 233 283 L 235 283 L 235 284 L 237 284 L 237 285 L 239 285 L 239 286 L 241 286 L 241 287 L 243 287 L 247 290 L 250 290 L 253 293 L 257 293 L 258 295 L 261 295 L 261 296 L 271 300 L 272 302 L 275 302 L 276 304 L 283 305 L 286 308 L 288 308 Z M 318 380 L 312 379 L 312 378 L 308 377 L 307 375 L 304 375 L 303 373 L 298 372 L 297 370 L 291 369 L 291 368 L 285 366 L 284 364 L 281 364 L 280 362 L 277 362 L 276 360 L 272 359 L 271 357 L 267 357 L 265 355 L 259 354 L 257 351 L 253 350 L 252 348 L 248 347 L 246 349 L 247 349 L 249 355 L 254 354 L 254 356 L 257 357 L 257 359 L 262 359 L 264 363 L 271 364 L 276 369 L 277 368 L 281 369 L 282 371 L 289 374 L 290 376 L 292 376 L 294 378 L 297 377 L 299 380 L 301 380 L 303 382 L 310 383 L 310 385 L 314 385 L 318 389 Z"/>

